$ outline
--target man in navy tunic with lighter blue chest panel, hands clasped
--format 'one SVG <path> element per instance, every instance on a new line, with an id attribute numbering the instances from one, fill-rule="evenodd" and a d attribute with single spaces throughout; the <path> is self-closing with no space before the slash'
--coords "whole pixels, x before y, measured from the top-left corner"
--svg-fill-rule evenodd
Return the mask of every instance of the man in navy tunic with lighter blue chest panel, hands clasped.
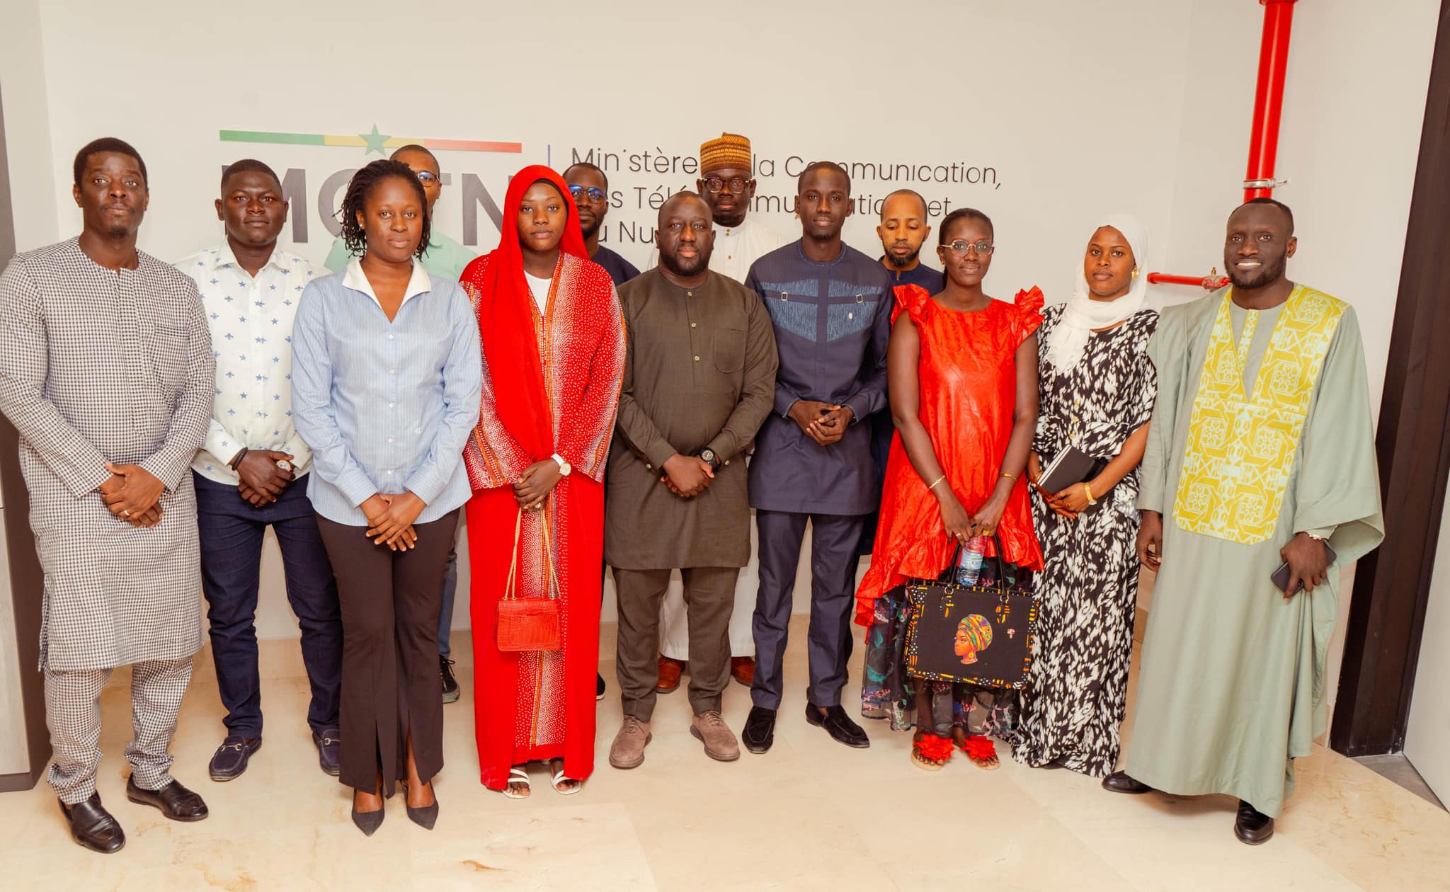
<path id="1" fill-rule="evenodd" d="M 755 261 L 745 278 L 770 310 L 780 368 L 774 412 L 755 438 L 750 505 L 760 540 L 754 706 L 741 735 L 764 753 L 774 740 L 796 571 L 811 524 L 811 631 L 806 721 L 848 747 L 870 746 L 841 706 L 856 595 L 856 550 L 879 505 L 871 429 L 886 408 L 892 278 L 845 245 L 851 178 L 816 161 L 800 174 L 800 241 Z"/>

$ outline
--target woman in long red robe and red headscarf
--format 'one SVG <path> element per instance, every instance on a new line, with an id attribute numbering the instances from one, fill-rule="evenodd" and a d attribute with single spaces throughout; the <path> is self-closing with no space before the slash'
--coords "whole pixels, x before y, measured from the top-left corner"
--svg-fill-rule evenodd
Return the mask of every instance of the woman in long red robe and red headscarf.
<path id="1" fill-rule="evenodd" d="M 584 249 L 568 187 L 541 165 L 510 180 L 499 248 L 468 264 L 461 283 L 483 338 L 478 426 L 464 450 L 478 766 L 484 786 L 523 798 L 526 764 L 547 761 L 554 789 L 574 793 L 594 770 L 602 479 L 624 318 L 609 274 Z M 560 650 L 499 650 L 515 529 L 516 595 L 558 598 Z"/>

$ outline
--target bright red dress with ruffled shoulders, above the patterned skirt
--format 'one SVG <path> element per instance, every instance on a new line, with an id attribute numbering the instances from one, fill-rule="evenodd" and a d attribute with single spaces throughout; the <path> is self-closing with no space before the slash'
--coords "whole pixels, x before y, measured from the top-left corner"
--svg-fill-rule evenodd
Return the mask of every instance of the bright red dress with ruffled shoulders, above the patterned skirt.
<path id="1" fill-rule="evenodd" d="M 1041 310 L 1043 292 L 1035 287 L 1018 292 L 1014 303 L 993 300 L 977 312 L 947 309 L 918 286 L 896 289 L 892 323 L 906 312 L 921 335 L 921 422 L 951 492 L 969 512 L 986 502 L 1002 474 L 1016 406 L 1016 350 L 1043 323 Z M 882 484 L 876 553 L 856 593 L 861 625 L 871 624 L 883 593 L 909 579 L 935 579 L 951 563 L 956 545 L 927 483 L 906 457 L 900 434 L 895 435 Z M 1003 561 L 1043 569 L 1025 480 L 1012 489 L 998 538 Z"/>

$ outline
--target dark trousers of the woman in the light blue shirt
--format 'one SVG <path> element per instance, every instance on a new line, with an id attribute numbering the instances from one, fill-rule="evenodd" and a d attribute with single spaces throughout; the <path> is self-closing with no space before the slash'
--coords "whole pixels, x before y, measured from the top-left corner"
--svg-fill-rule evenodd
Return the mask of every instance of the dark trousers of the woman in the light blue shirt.
<path id="1" fill-rule="evenodd" d="M 415 524 L 418 547 L 374 545 L 367 526 L 318 518 L 342 603 L 342 776 L 383 795 L 406 777 L 407 738 L 418 776 L 444 767 L 444 702 L 438 693 L 438 612 L 444 564 L 458 511 Z"/>

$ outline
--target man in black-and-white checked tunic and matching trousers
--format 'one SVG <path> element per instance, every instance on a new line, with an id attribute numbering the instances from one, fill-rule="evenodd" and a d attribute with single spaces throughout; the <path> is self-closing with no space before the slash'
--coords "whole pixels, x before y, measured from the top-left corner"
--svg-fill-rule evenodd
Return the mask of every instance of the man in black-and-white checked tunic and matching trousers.
<path id="1" fill-rule="evenodd" d="M 119 139 L 75 155 L 78 238 L 0 276 L 0 410 L 20 434 L 45 570 L 41 670 L 71 837 L 126 841 L 96 792 L 100 693 L 130 666 L 126 798 L 175 821 L 206 804 L 171 777 L 177 708 L 202 647 L 191 457 L 212 418 L 212 336 L 196 283 L 136 249 L 146 167 Z"/>

